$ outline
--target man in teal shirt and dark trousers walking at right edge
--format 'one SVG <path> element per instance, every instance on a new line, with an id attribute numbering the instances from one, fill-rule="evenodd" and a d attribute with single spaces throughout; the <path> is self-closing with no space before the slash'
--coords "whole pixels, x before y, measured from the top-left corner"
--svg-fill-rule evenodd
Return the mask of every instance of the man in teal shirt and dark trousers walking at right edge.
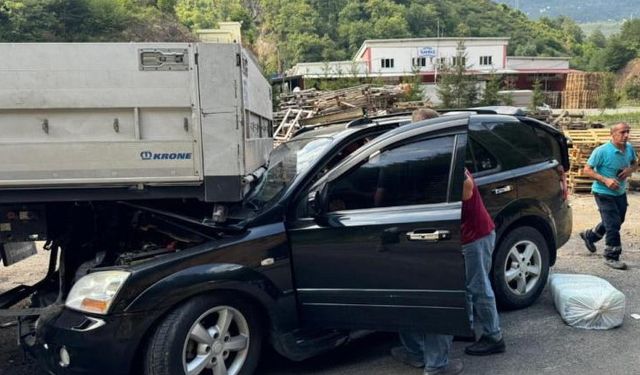
<path id="1" fill-rule="evenodd" d="M 601 222 L 593 229 L 580 232 L 587 249 L 595 253 L 595 243 L 605 237 L 605 264 L 611 268 L 624 270 L 625 262 L 620 260 L 622 245 L 620 226 L 627 213 L 627 178 L 636 170 L 636 152 L 627 141 L 630 127 L 621 122 L 611 127 L 611 141 L 597 147 L 591 153 L 584 173 L 595 181 L 591 192 L 600 211 Z"/>

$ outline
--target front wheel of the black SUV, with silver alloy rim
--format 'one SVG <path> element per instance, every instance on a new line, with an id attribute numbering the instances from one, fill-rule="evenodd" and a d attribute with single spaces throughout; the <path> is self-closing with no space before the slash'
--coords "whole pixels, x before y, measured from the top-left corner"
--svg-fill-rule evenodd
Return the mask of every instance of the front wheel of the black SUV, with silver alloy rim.
<path id="1" fill-rule="evenodd" d="M 249 375 L 262 344 L 255 308 L 228 296 L 200 296 L 160 323 L 145 353 L 146 375 Z"/>

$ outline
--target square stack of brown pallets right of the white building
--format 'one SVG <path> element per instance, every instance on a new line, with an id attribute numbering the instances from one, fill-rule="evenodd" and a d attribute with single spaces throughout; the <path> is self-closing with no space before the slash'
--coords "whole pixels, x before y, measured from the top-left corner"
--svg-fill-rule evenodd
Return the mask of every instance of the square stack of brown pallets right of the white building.
<path id="1" fill-rule="evenodd" d="M 562 92 L 562 108 L 597 108 L 602 77 L 601 73 L 569 73 Z"/>

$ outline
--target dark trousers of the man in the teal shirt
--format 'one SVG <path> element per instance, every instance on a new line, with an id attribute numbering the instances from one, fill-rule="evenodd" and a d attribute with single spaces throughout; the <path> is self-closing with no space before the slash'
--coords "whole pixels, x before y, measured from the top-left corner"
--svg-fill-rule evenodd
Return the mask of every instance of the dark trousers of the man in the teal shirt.
<path id="1" fill-rule="evenodd" d="M 604 251 L 605 258 L 619 259 L 622 252 L 620 243 L 620 226 L 624 223 L 627 214 L 627 195 L 593 194 L 596 198 L 601 222 L 595 228 L 587 231 L 587 236 L 592 242 L 597 242 L 605 237 L 607 245 Z"/>

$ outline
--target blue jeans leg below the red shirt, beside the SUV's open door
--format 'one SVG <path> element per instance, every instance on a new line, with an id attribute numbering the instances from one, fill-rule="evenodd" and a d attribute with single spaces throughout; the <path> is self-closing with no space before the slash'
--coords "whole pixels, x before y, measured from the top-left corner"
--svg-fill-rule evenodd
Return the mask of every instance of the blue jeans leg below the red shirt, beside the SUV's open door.
<path id="1" fill-rule="evenodd" d="M 483 336 L 494 340 L 502 338 L 500 319 L 496 308 L 496 296 L 491 288 L 491 255 L 496 242 L 496 232 L 462 246 L 467 276 L 467 303 L 469 321 Z"/>

